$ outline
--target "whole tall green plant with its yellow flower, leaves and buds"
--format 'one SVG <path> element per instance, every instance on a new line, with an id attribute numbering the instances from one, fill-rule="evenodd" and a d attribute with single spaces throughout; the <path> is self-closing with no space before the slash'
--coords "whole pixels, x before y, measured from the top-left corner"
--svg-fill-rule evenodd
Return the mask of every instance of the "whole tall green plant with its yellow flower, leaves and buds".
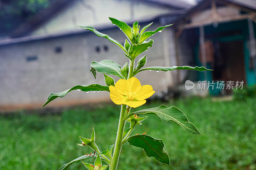
<path id="1" fill-rule="evenodd" d="M 80 146 L 89 146 L 92 148 L 90 154 L 85 154 L 77 159 L 72 160 L 71 162 L 64 164 L 60 167 L 60 170 L 68 169 L 72 163 L 80 162 L 84 159 L 95 158 L 94 165 L 88 164 L 82 161 L 84 166 L 89 170 L 103 170 L 108 168 L 110 170 L 115 170 L 117 167 L 119 155 L 122 149 L 122 145 L 126 142 L 129 144 L 142 148 L 148 157 L 155 157 L 156 160 L 170 165 L 169 156 L 164 150 L 164 143 L 161 139 L 155 139 L 151 136 L 143 134 L 131 135 L 132 130 L 135 128 L 135 125 L 140 125 L 141 121 L 146 119 L 146 117 L 140 117 L 141 115 L 156 115 L 163 122 L 172 121 L 180 125 L 186 132 L 191 134 L 201 135 L 196 127 L 188 122 L 187 116 L 177 107 L 171 106 L 167 107 L 161 105 L 155 108 L 148 108 L 144 110 L 139 110 L 134 112 L 132 107 L 139 107 L 143 105 L 148 97 L 150 97 L 155 91 L 151 85 L 140 85 L 140 81 L 135 78 L 136 74 L 144 70 L 161 70 L 161 71 L 171 71 L 171 70 L 198 70 L 205 71 L 208 70 L 204 67 L 190 67 L 190 66 L 173 66 L 173 67 L 146 67 L 142 68 L 146 64 L 146 55 L 141 57 L 137 63 L 137 66 L 134 66 L 135 58 L 148 50 L 149 47 L 152 47 L 153 40 L 149 39 L 152 35 L 157 32 L 161 32 L 164 28 L 171 26 L 166 25 L 157 28 L 155 31 L 145 30 L 152 24 L 148 24 L 140 30 L 138 21 L 133 23 L 132 27 L 128 26 L 125 22 L 119 21 L 115 18 L 110 18 L 111 22 L 118 26 L 123 33 L 126 35 L 124 45 L 120 44 L 118 41 L 112 39 L 110 36 L 100 33 L 91 26 L 79 26 L 83 29 L 94 32 L 99 37 L 104 37 L 109 41 L 115 43 L 119 48 L 124 52 L 124 55 L 128 58 L 129 64 L 125 63 L 124 66 L 121 66 L 111 60 L 102 60 L 100 62 L 93 61 L 91 63 L 91 72 L 96 78 L 96 72 L 104 74 L 104 82 L 106 86 L 92 84 L 92 85 L 76 85 L 64 92 L 51 93 L 48 97 L 46 103 L 42 106 L 51 102 L 52 100 L 58 97 L 64 97 L 68 92 L 73 90 L 81 90 L 83 92 L 88 91 L 108 91 L 110 92 L 110 98 L 114 103 L 121 105 L 121 112 L 119 117 L 116 142 L 115 144 L 110 145 L 105 151 L 100 151 L 99 147 L 96 144 L 95 140 L 95 131 L 92 129 L 91 138 L 80 137 L 82 144 Z M 109 76 L 108 76 L 109 75 Z M 115 75 L 120 78 L 116 83 L 111 75 Z M 130 123 L 129 129 L 124 129 L 125 123 Z M 113 141 L 114 142 L 114 141 Z M 101 160 L 103 160 L 107 165 L 102 165 Z"/>

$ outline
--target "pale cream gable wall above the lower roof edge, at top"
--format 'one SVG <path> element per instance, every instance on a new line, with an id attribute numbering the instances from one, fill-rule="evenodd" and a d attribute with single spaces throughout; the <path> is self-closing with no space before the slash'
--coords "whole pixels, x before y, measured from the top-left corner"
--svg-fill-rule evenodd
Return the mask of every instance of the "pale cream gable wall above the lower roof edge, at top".
<path id="1" fill-rule="evenodd" d="M 153 18 L 171 12 L 173 9 L 131 0 L 73 0 L 74 2 L 53 16 L 31 35 L 59 33 L 79 29 L 78 26 L 110 25 L 108 17 L 125 22 Z"/>

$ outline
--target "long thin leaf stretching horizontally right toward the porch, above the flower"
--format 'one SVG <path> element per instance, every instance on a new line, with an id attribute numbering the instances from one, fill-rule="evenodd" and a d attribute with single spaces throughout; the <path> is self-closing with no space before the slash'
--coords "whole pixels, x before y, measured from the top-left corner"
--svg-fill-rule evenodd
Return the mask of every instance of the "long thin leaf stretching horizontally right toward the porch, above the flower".
<path id="1" fill-rule="evenodd" d="M 191 67 L 191 66 L 173 66 L 173 67 L 146 67 L 141 70 L 137 70 L 137 73 L 144 70 L 160 70 L 160 71 L 172 71 L 172 70 L 197 70 L 197 71 L 212 71 L 204 67 Z"/>

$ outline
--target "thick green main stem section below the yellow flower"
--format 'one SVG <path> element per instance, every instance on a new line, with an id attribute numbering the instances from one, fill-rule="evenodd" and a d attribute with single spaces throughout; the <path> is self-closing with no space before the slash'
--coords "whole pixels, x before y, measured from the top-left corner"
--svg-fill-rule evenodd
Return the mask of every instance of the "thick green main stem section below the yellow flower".
<path id="1" fill-rule="evenodd" d="M 122 149 L 122 138 L 123 138 L 123 132 L 124 132 L 124 114 L 125 114 L 125 109 L 126 105 L 122 105 L 121 108 L 121 113 L 120 113 L 120 119 L 119 119 L 119 124 L 118 124 L 118 129 L 117 129 L 117 135 L 116 135 L 116 144 L 114 148 L 114 154 L 113 158 L 111 160 L 109 170 L 116 170 L 117 167 L 117 162 L 119 159 L 119 155 Z"/>

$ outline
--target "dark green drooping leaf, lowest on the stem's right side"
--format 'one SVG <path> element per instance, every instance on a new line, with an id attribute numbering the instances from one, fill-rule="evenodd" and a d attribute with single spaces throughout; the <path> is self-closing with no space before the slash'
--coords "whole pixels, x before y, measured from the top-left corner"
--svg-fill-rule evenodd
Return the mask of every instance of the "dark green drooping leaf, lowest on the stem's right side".
<path id="1" fill-rule="evenodd" d="M 155 157 L 156 160 L 170 165 L 168 154 L 164 151 L 164 143 L 161 139 L 154 139 L 148 135 L 133 135 L 128 137 L 128 143 L 142 148 L 148 157 Z"/>

